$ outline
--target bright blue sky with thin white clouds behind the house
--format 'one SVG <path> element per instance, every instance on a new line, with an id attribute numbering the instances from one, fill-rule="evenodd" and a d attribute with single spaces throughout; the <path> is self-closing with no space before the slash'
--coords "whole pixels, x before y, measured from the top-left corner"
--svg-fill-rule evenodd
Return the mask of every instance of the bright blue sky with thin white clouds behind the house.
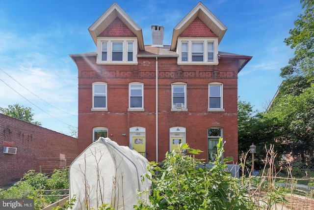
<path id="1" fill-rule="evenodd" d="M 95 52 L 88 28 L 111 0 L 0 0 L 0 107 L 31 107 L 43 127 L 68 134 L 78 124 L 77 66 L 69 54 Z M 199 0 L 116 0 L 141 27 L 174 27 Z M 228 28 L 219 51 L 253 56 L 238 75 L 238 95 L 264 111 L 294 50 L 284 43 L 302 12 L 298 0 L 203 0 Z"/>

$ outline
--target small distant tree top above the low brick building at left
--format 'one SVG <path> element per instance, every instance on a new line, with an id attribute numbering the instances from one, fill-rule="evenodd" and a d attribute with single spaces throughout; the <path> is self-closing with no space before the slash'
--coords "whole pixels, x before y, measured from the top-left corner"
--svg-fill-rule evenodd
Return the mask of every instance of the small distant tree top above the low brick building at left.
<path id="1" fill-rule="evenodd" d="M 35 125 L 41 125 L 40 122 L 33 120 L 34 114 L 30 107 L 24 107 L 19 104 L 8 105 L 8 108 L 0 107 L 0 113 Z"/>

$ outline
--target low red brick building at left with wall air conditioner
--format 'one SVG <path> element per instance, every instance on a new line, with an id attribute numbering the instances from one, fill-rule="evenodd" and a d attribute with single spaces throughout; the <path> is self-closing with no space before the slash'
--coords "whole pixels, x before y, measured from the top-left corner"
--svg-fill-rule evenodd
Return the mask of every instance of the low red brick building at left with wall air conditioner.
<path id="1" fill-rule="evenodd" d="M 0 187 L 28 170 L 51 173 L 78 156 L 78 139 L 0 114 Z"/>

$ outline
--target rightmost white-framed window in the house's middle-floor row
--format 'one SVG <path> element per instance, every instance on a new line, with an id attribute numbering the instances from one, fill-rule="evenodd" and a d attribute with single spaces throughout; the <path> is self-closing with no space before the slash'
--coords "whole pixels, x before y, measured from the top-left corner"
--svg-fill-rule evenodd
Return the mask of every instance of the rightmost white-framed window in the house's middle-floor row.
<path id="1" fill-rule="evenodd" d="M 209 111 L 224 111 L 223 85 L 221 83 L 209 83 Z"/>

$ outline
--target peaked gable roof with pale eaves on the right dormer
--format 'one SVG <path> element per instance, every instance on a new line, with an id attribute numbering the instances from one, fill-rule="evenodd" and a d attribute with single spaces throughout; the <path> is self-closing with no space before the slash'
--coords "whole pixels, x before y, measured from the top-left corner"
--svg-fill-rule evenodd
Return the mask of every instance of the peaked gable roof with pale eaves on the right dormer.
<path id="1" fill-rule="evenodd" d="M 210 30 L 212 30 L 218 36 L 218 43 L 225 35 L 227 27 L 223 25 L 216 16 L 214 16 L 209 9 L 204 6 L 202 2 L 199 2 L 184 18 L 183 20 L 173 29 L 171 48 L 170 50 L 175 51 L 177 45 L 178 36 L 196 19 L 200 18 Z"/>

